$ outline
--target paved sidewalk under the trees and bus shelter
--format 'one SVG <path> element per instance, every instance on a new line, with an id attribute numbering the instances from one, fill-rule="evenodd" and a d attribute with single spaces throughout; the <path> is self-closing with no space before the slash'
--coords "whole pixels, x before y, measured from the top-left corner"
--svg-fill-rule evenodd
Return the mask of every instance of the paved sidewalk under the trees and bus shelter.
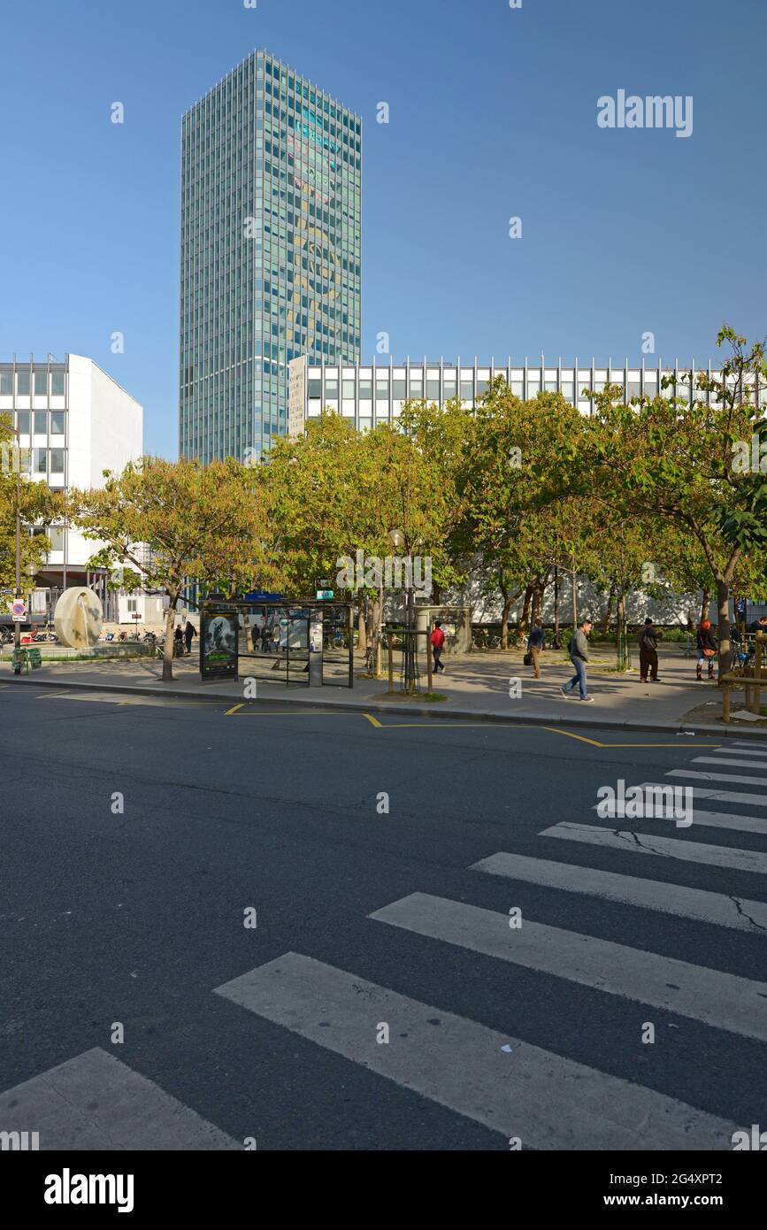
<path id="1" fill-rule="evenodd" d="M 258 679 L 258 701 L 290 707 L 355 708 L 371 713 L 428 713 L 440 718 L 472 718 L 502 722 L 530 722 L 536 724 L 617 726 L 628 729 L 685 729 L 710 728 L 733 737 L 766 738 L 767 727 L 734 721 L 725 727 L 720 721 L 722 692 L 708 681 L 696 681 L 693 659 L 686 659 L 681 649 L 664 649 L 660 653 L 659 684 L 642 684 L 637 672 L 617 674 L 611 672 L 615 657 L 597 653 L 590 665 L 589 691 L 594 704 L 564 697 L 562 684 L 572 676 L 572 668 L 559 654 L 547 653 L 542 661 L 541 681 L 532 670 L 522 665 L 519 652 L 472 653 L 446 659 L 445 674 L 435 680 L 435 691 L 446 700 L 428 704 L 423 699 L 387 696 L 387 681 L 355 678 L 354 690 L 345 688 L 309 689 L 285 686 Z M 241 663 L 242 676 L 247 676 L 247 662 Z M 361 662 L 360 662 L 361 672 Z M 240 683 L 200 683 L 198 659 L 173 663 L 175 680 L 163 684 L 161 663 L 146 662 L 79 662 L 47 663 L 41 670 L 16 679 L 10 673 L 7 659 L 0 665 L 0 686 L 44 685 L 60 689 L 91 691 L 116 691 L 127 695 L 171 696 L 189 700 L 246 704 L 242 678 Z M 511 699 L 510 681 L 521 679 L 521 697 Z M 425 686 L 425 680 L 424 680 Z M 735 704 L 740 696 L 734 695 Z M 694 721 L 685 722 L 685 715 L 697 708 Z M 706 712 L 710 710 L 710 716 Z"/>

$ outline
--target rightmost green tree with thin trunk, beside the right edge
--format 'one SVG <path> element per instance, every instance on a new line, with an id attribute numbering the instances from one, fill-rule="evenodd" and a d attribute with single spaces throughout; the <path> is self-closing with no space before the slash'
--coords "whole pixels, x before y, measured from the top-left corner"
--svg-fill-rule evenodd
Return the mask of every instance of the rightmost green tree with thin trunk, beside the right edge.
<path id="1" fill-rule="evenodd" d="M 687 374 L 672 395 L 628 406 L 615 385 L 594 395 L 595 415 L 560 462 L 570 492 L 597 490 L 622 517 L 663 517 L 697 540 L 717 590 L 723 673 L 731 653 L 730 587 L 736 576 L 749 582 L 749 560 L 767 545 L 767 476 L 739 466 L 744 448 L 756 438 L 758 453 L 762 440 L 755 389 L 767 384 L 767 368 L 761 343 L 749 346 L 729 326 L 718 344 L 730 347 L 722 379 L 701 374 L 696 390 Z M 710 403 L 699 396 L 706 391 Z"/>

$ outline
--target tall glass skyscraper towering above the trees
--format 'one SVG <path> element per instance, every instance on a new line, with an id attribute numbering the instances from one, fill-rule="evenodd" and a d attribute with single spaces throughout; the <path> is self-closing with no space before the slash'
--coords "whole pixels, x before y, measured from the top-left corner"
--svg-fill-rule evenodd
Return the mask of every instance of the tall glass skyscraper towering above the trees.
<path id="1" fill-rule="evenodd" d="M 179 453 L 268 453 L 289 364 L 360 358 L 361 122 L 268 52 L 181 133 Z"/>

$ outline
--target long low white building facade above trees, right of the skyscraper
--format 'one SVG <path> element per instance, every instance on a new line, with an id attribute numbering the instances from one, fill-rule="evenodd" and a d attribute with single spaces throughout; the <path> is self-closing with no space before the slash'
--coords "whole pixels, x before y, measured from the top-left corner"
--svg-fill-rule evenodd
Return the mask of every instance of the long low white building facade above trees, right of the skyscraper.
<path id="1" fill-rule="evenodd" d="M 497 363 L 492 359 L 481 364 L 477 359 L 465 363 L 429 362 L 428 359 L 406 363 L 385 364 L 344 364 L 320 363 L 310 355 L 294 359 L 290 364 L 290 419 L 289 434 L 295 438 L 302 434 L 306 422 L 317 418 L 323 408 L 334 410 L 349 419 L 358 430 L 370 430 L 377 423 L 396 421 L 402 406 L 408 400 L 433 401 L 444 403 L 454 397 L 461 397 L 466 406 L 473 407 L 497 376 L 503 376 L 511 392 L 522 399 L 536 397 L 542 390 L 560 392 L 567 401 L 576 405 L 588 415 L 591 402 L 584 396 L 586 389 L 601 392 L 607 383 L 622 385 L 628 400 L 640 395 L 655 396 L 663 392 L 661 379 L 677 379 L 686 371 L 706 371 L 712 376 L 719 373 L 712 369 L 687 367 L 675 362 L 674 365 L 631 367 L 624 363 L 616 367 L 612 360 L 597 365 L 590 363 L 563 367 L 562 360 L 540 364 L 514 363 L 506 359 Z M 677 383 L 677 395 L 690 386 Z M 671 390 L 667 389 L 670 395 Z M 699 396 L 699 395 L 697 395 Z M 767 402 L 767 391 L 762 390 L 761 403 Z"/>

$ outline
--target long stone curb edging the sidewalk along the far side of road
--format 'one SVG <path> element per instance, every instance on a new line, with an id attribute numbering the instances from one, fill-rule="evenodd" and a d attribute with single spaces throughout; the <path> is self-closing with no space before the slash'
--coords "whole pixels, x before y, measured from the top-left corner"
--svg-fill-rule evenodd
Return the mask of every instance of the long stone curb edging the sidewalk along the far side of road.
<path id="1" fill-rule="evenodd" d="M 248 707 L 262 707 L 262 706 L 278 706 L 285 710 L 304 708 L 307 712 L 313 710 L 331 710 L 337 713 L 375 713 L 386 715 L 393 713 L 397 717 L 411 716 L 411 717 L 429 717 L 438 718 L 439 721 L 471 721 L 471 722 L 483 722 L 487 724 L 503 724 L 503 726 L 574 726 L 584 729 L 604 729 L 608 727 L 616 731 L 637 731 L 639 733 L 660 733 L 660 734 L 676 734 L 680 739 L 683 739 L 687 734 L 693 734 L 696 737 L 715 737 L 715 738 L 738 738 L 738 739 L 753 739 L 756 743 L 767 739 L 767 729 L 753 731 L 749 727 L 726 727 L 726 726 L 696 726 L 678 722 L 643 722 L 643 721 L 628 721 L 626 718 L 611 718 L 607 716 L 599 716 L 597 713 L 590 712 L 589 716 L 576 716 L 568 708 L 562 715 L 556 716 L 538 716 L 538 715 L 526 715 L 516 716 L 514 713 L 477 713 L 472 710 L 466 708 L 451 708 L 445 711 L 444 708 L 434 708 L 425 706 L 414 705 L 397 705 L 392 702 L 384 702 L 370 700 L 370 701 L 350 701 L 347 704 L 333 704 L 331 700 L 280 700 L 269 699 L 259 701 L 241 701 L 237 696 L 225 695 L 222 692 L 202 692 L 199 690 L 194 692 L 184 691 L 179 688 L 149 688 L 141 684 L 101 684 L 101 683 L 80 683 L 80 681 L 61 681 L 52 679 L 27 679 L 12 678 L 6 680 L 10 686 L 14 688 L 50 688 L 57 691 L 102 691 L 111 692 L 122 696 L 154 696 L 160 699 L 170 700 L 187 700 L 187 701 L 215 701 L 216 704 L 230 705 L 231 707 L 236 705 L 243 705 Z"/>

